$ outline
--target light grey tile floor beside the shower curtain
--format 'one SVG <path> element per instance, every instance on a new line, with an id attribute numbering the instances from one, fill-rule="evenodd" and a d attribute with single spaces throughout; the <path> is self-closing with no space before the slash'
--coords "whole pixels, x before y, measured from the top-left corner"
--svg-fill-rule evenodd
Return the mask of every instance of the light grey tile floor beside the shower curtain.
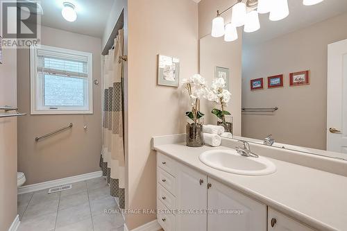
<path id="1" fill-rule="evenodd" d="M 105 178 L 72 184 L 53 194 L 48 189 L 18 195 L 19 231 L 123 231 L 119 209 Z M 112 211 L 111 210 L 111 211 Z"/>

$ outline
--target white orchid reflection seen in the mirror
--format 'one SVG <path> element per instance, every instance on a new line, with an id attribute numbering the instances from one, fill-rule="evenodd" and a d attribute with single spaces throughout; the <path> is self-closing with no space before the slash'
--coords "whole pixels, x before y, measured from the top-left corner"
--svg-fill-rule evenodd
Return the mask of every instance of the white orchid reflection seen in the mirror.
<path id="1" fill-rule="evenodd" d="M 212 110 L 212 114 L 215 114 L 223 123 L 226 123 L 225 115 L 230 114 L 230 112 L 225 110 L 225 108 L 231 98 L 230 92 L 225 88 L 226 80 L 224 78 L 214 78 L 207 96 L 209 101 L 216 102 L 221 105 L 221 109 L 214 108 Z"/>

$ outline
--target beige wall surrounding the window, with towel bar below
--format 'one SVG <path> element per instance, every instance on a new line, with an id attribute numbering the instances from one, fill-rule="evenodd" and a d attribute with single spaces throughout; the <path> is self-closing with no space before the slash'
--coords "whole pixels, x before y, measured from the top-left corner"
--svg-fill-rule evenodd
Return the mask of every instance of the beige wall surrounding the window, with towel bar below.
<path id="1" fill-rule="evenodd" d="M 101 39 L 44 26 L 41 39 L 44 45 L 93 53 L 93 78 L 101 80 Z M 30 114 L 28 49 L 18 50 L 17 62 L 19 110 Z M 93 85 L 94 114 L 28 115 L 19 119 L 18 168 L 26 174 L 27 185 L 100 170 L 101 86 Z M 74 127 L 35 142 L 35 137 L 68 123 Z"/>

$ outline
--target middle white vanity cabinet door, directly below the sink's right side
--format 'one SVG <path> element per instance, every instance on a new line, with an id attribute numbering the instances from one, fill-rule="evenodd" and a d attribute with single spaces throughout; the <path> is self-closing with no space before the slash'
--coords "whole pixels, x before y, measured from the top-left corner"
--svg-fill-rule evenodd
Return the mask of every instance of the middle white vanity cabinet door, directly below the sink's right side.
<path id="1" fill-rule="evenodd" d="M 208 178 L 208 231 L 266 231 L 266 205 Z"/>

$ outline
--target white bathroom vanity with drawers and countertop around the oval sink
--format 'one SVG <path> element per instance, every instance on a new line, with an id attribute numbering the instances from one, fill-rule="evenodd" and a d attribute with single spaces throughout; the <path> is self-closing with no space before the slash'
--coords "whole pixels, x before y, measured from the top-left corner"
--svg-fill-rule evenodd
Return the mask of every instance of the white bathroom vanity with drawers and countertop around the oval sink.
<path id="1" fill-rule="evenodd" d="M 158 222 L 165 231 L 347 230 L 347 178 L 319 169 L 321 161 L 332 166 L 335 160 L 312 157 L 311 164 L 316 163 L 318 168 L 314 169 L 298 164 L 306 158 L 300 153 L 291 153 L 292 161 L 285 162 L 283 153 L 271 157 L 280 151 L 269 147 L 266 155 L 262 150 L 265 147 L 251 145 L 256 154 L 276 166 L 276 171 L 246 176 L 218 170 L 199 160 L 206 151 L 235 151 L 239 142 L 223 139 L 217 148 L 189 148 L 183 140 L 182 135 L 153 138 Z M 228 166 L 228 160 L 224 161 Z M 246 166 L 242 160 L 235 162 L 241 164 L 239 169 Z M 345 163 L 336 160 L 335 164 L 340 168 L 339 164 Z"/>

